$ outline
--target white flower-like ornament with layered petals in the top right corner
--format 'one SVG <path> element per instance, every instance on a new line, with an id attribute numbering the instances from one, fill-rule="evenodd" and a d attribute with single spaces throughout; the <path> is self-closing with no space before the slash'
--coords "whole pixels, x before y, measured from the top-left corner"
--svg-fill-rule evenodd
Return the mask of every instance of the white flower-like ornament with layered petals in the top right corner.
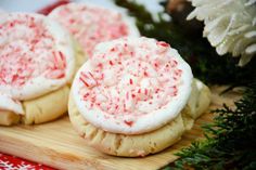
<path id="1" fill-rule="evenodd" d="M 219 55 L 228 52 L 247 64 L 256 54 L 256 0 L 189 0 L 195 9 L 188 19 L 204 21 L 203 36 Z"/>

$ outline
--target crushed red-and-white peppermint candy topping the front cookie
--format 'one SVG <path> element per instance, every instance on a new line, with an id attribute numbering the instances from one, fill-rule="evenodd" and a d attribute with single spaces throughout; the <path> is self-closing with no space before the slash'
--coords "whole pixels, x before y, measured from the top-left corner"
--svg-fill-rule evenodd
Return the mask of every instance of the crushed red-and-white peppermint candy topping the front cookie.
<path id="1" fill-rule="evenodd" d="M 158 45 L 166 51 L 169 48 L 165 42 L 155 45 L 157 50 Z M 164 107 L 177 95 L 182 70 L 176 58 L 157 50 L 142 54 L 125 41 L 108 48 L 103 60 L 101 54 L 94 54 L 91 62 L 98 65 L 90 71 L 80 71 L 79 80 L 88 89 L 82 92 L 82 100 L 111 115 L 141 115 Z M 127 55 L 131 52 L 133 55 Z"/>

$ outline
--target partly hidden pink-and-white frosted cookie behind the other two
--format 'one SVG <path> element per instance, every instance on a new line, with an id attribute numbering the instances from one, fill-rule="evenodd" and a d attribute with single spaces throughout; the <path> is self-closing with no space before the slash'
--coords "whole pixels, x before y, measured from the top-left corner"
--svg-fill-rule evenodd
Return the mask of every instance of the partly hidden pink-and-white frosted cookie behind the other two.
<path id="1" fill-rule="evenodd" d="M 139 36 L 135 21 L 116 10 L 85 3 L 68 3 L 54 9 L 49 17 L 75 37 L 90 57 L 97 43 L 127 36 Z"/>

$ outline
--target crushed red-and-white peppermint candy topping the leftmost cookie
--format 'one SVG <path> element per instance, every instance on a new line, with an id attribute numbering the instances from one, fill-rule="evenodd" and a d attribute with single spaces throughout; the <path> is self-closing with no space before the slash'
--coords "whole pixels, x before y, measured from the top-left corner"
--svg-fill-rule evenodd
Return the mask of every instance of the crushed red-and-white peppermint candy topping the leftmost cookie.
<path id="1" fill-rule="evenodd" d="M 0 23 L 0 86 L 22 87 L 44 76 L 65 77 L 66 58 L 41 17 L 13 13 Z"/>

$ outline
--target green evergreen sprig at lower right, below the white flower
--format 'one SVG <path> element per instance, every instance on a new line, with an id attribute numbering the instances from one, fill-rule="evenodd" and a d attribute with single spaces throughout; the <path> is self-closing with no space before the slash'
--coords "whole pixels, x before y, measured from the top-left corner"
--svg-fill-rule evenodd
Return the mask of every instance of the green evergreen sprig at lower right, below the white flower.
<path id="1" fill-rule="evenodd" d="M 178 153 L 174 169 L 256 169 L 256 77 L 234 105 L 214 110 L 214 122 L 203 127 L 206 140 Z"/>

